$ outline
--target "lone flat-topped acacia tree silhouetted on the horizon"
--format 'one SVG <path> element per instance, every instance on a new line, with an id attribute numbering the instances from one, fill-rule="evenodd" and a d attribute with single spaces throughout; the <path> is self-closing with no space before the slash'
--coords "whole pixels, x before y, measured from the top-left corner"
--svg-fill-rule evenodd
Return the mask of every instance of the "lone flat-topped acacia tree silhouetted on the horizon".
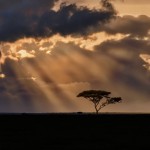
<path id="1" fill-rule="evenodd" d="M 121 97 L 110 97 L 111 92 L 100 90 L 88 90 L 83 91 L 77 95 L 77 97 L 84 97 L 90 100 L 94 104 L 96 113 L 108 104 L 115 104 L 122 101 Z M 103 101 L 104 100 L 104 101 Z M 101 103 L 100 103 L 101 102 Z"/>

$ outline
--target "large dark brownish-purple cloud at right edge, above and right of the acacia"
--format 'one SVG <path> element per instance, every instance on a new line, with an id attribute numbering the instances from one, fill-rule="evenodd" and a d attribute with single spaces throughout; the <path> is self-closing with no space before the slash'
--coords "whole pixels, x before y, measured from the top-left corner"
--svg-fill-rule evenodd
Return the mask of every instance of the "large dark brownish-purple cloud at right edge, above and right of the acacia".
<path id="1" fill-rule="evenodd" d="M 150 96 L 150 78 L 142 66 L 143 61 L 139 55 L 149 53 L 149 49 L 148 41 L 136 40 L 131 37 L 116 41 L 108 40 L 95 47 L 99 54 L 106 55 L 118 64 L 116 68 L 113 68 L 111 74 L 114 84 L 128 87 L 128 89 L 145 96 Z M 130 93 L 130 91 L 128 92 Z"/>

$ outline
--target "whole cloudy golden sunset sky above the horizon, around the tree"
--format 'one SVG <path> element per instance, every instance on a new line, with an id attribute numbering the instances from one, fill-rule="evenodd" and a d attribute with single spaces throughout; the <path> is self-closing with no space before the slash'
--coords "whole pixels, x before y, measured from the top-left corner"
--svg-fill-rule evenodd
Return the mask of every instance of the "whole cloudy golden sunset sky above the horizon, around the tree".
<path id="1" fill-rule="evenodd" d="M 150 113 L 149 0 L 0 0 L 0 112 Z"/>

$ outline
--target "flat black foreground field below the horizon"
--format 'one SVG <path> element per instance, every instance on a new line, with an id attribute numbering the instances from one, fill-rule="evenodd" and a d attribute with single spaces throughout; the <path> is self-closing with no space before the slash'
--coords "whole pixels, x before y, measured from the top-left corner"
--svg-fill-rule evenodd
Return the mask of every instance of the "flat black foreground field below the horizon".
<path id="1" fill-rule="evenodd" d="M 150 148 L 150 114 L 0 114 L 0 150 Z"/>

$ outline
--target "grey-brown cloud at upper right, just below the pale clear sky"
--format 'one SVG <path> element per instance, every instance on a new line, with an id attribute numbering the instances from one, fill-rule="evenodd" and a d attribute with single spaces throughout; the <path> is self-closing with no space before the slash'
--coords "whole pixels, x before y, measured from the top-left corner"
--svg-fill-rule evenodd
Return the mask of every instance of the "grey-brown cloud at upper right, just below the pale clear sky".
<path id="1" fill-rule="evenodd" d="M 129 34 L 136 37 L 146 37 L 150 30 L 150 17 L 148 16 L 118 16 L 110 23 L 105 24 L 102 29 L 109 34 Z"/>

